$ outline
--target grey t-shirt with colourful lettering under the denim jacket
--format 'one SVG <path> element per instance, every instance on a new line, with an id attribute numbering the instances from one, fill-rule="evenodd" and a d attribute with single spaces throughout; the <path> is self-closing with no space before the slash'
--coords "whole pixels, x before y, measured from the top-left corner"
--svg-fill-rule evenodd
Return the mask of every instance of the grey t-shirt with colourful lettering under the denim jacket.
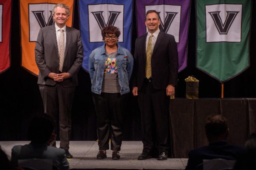
<path id="1" fill-rule="evenodd" d="M 104 75 L 102 80 L 102 92 L 104 93 L 120 93 L 120 85 L 118 82 L 116 53 L 107 53 L 105 62 Z"/>

